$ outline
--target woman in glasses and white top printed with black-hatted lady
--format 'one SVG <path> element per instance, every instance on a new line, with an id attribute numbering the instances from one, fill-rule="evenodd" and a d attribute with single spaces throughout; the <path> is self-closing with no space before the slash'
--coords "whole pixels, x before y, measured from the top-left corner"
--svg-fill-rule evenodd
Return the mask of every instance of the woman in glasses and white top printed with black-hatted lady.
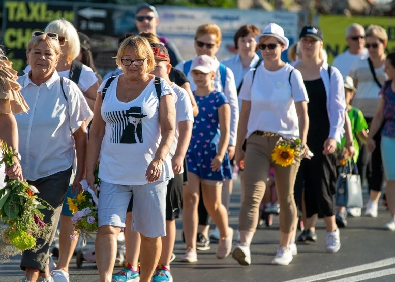
<path id="1" fill-rule="evenodd" d="M 149 74 L 155 68 L 148 41 L 131 36 L 119 46 L 123 74 L 103 81 L 89 131 L 86 180 L 94 187 L 100 153 L 96 262 L 100 281 L 111 281 L 116 237 L 125 227 L 133 194 L 132 230 L 141 236 L 140 281 L 151 280 L 166 236 L 168 180 L 174 177 L 169 151 L 175 134 L 174 91 Z M 136 271 L 138 269 L 135 269 Z"/>

